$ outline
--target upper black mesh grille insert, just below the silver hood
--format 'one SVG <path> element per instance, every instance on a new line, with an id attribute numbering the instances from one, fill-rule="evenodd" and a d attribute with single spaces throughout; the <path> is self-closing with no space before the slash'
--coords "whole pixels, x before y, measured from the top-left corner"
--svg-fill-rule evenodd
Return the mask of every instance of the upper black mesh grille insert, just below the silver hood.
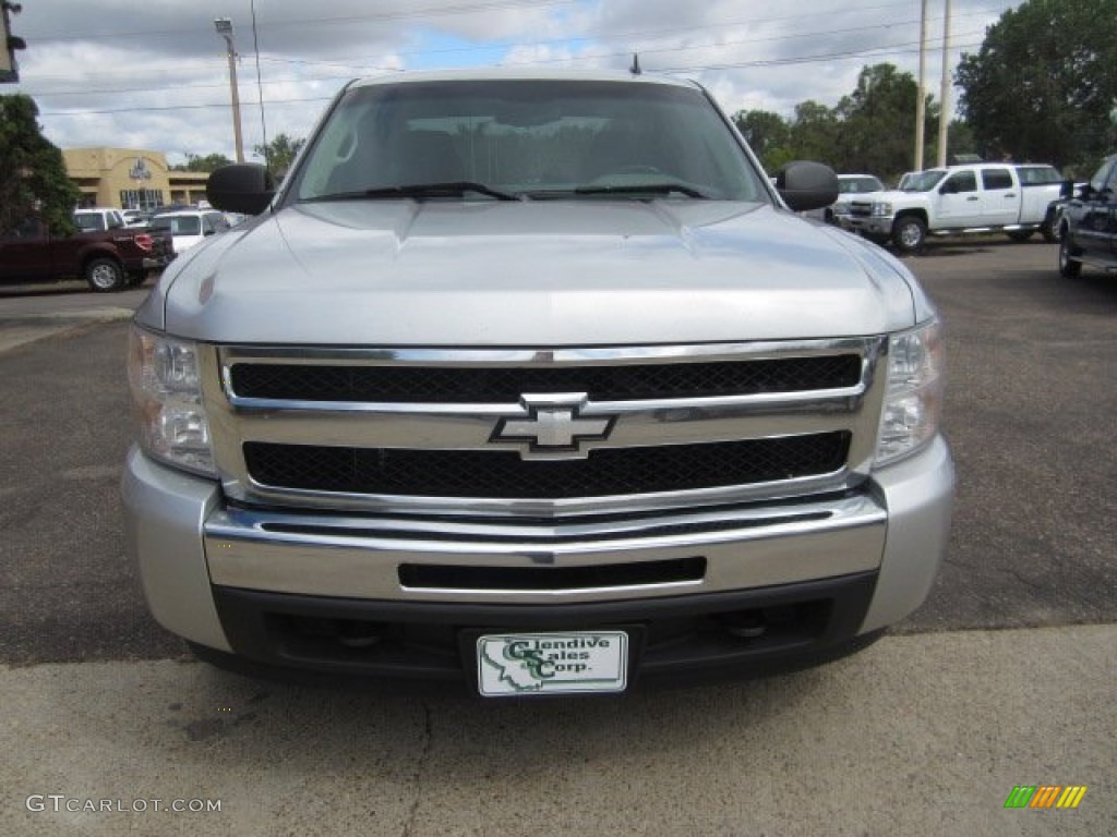
<path id="1" fill-rule="evenodd" d="M 636 401 L 850 387 L 861 379 L 861 358 L 534 368 L 236 363 L 231 379 L 238 396 L 266 400 L 514 404 L 525 393 L 589 393 L 591 401 Z"/>

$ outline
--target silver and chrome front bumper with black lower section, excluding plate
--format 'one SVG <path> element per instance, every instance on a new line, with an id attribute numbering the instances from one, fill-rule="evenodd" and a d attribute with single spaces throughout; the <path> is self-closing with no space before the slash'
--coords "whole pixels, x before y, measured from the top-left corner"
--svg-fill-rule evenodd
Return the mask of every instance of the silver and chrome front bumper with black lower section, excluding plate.
<path id="1" fill-rule="evenodd" d="M 919 606 L 953 484 L 937 440 L 859 492 L 462 523 L 238 509 L 134 449 L 124 500 L 151 610 L 185 639 L 270 666 L 468 680 L 464 637 L 491 628 L 620 626 L 633 675 L 810 663 Z M 757 619 L 764 635 L 742 639 Z"/>

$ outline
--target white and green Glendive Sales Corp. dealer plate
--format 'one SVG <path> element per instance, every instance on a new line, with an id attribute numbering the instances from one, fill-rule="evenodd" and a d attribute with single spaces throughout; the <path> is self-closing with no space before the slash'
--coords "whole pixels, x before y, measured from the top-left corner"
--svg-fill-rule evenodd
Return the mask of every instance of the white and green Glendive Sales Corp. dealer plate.
<path id="1" fill-rule="evenodd" d="M 494 634 L 477 639 L 477 683 L 489 698 L 623 692 L 628 634 Z"/>

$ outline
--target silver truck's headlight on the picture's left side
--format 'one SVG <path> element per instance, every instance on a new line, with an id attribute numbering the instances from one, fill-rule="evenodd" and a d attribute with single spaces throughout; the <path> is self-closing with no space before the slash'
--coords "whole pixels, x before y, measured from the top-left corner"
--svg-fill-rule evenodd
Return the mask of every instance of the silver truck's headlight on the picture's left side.
<path id="1" fill-rule="evenodd" d="M 141 446 L 169 465 L 217 477 L 198 367 L 197 344 L 132 327 L 128 385 Z"/>

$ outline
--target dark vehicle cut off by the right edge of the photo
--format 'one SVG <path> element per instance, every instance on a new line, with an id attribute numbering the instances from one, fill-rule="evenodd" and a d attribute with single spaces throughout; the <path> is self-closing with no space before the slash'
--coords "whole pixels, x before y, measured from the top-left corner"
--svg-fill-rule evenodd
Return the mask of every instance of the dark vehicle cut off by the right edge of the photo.
<path id="1" fill-rule="evenodd" d="M 1068 198 L 1059 222 L 1059 272 L 1072 279 L 1083 264 L 1117 271 L 1117 154 Z"/>

